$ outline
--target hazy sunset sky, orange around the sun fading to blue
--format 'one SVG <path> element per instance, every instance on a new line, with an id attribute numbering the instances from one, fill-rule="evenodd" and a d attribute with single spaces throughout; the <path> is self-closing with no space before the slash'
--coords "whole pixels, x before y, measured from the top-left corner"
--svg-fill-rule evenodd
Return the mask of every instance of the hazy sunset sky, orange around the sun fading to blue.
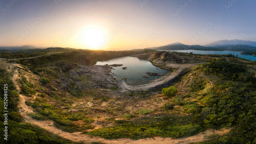
<path id="1" fill-rule="evenodd" d="M 0 46 L 121 50 L 256 41 L 255 0 L 0 0 Z"/>

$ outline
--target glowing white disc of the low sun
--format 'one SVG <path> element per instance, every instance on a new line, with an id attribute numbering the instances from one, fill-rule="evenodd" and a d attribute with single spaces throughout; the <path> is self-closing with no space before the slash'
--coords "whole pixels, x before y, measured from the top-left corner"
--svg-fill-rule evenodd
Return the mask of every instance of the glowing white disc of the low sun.
<path id="1" fill-rule="evenodd" d="M 99 47 L 99 44 L 102 43 L 104 36 L 97 29 L 87 30 L 84 34 L 84 43 L 89 47 Z"/>

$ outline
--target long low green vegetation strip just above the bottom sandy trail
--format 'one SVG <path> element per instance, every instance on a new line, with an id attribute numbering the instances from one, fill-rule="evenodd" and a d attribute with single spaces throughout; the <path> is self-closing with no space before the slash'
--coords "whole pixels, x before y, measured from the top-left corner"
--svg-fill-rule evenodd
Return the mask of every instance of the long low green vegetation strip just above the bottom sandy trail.
<path id="1" fill-rule="evenodd" d="M 88 132 L 89 135 L 101 136 L 106 139 L 131 138 L 142 139 L 154 136 L 179 138 L 192 136 L 200 131 L 204 131 L 200 125 L 168 125 L 158 123 L 154 126 L 138 126 L 130 123 L 118 127 L 105 127 Z"/>

